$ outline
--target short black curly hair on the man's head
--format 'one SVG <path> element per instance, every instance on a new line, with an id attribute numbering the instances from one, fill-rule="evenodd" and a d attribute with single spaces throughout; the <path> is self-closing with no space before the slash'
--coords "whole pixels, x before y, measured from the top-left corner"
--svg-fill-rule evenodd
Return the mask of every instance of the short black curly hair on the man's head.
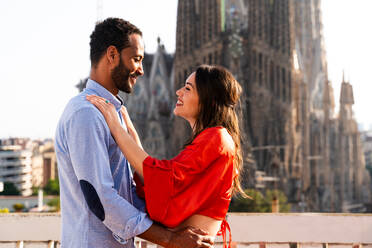
<path id="1" fill-rule="evenodd" d="M 120 18 L 107 18 L 96 24 L 90 35 L 90 61 L 96 65 L 109 46 L 115 46 L 120 53 L 129 47 L 129 36 L 139 34 L 141 30 L 132 23 Z"/>

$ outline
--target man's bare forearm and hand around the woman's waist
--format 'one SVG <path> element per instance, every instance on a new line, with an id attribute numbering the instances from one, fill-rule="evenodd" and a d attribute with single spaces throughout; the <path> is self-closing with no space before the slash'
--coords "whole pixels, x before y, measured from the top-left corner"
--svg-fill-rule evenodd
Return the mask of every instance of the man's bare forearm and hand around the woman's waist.
<path id="1" fill-rule="evenodd" d="M 138 237 L 166 248 L 212 247 L 213 238 L 207 234 L 194 227 L 186 227 L 173 232 L 154 223 Z"/>

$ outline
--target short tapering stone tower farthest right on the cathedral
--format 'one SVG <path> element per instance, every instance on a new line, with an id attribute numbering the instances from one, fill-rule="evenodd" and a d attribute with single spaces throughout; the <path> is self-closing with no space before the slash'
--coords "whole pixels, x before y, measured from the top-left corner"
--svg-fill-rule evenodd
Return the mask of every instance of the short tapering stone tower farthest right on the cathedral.
<path id="1" fill-rule="evenodd" d="M 330 199 L 340 212 L 359 212 L 371 203 L 371 178 L 366 170 L 361 133 L 354 118 L 353 88 L 345 80 L 341 84 L 340 111 L 331 135 L 331 160 L 328 177 L 334 195 Z"/>

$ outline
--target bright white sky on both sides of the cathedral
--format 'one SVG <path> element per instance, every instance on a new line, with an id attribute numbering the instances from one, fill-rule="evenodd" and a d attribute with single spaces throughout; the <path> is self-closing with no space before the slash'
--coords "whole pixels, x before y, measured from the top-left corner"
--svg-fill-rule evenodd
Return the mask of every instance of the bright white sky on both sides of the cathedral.
<path id="1" fill-rule="evenodd" d="M 335 101 L 345 70 L 354 87 L 356 119 L 365 128 L 372 127 L 371 10 L 371 0 L 322 1 Z M 78 93 L 75 85 L 89 75 L 95 22 L 111 16 L 142 30 L 146 52 L 156 50 L 157 37 L 174 52 L 177 0 L 0 1 L 0 138 L 54 137 L 65 105 Z"/>

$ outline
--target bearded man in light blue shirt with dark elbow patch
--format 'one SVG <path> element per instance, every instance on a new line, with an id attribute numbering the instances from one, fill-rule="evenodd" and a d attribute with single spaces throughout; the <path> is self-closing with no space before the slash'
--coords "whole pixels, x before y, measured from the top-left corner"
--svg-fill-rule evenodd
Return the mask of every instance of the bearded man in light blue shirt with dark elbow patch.
<path id="1" fill-rule="evenodd" d="M 126 158 L 104 117 L 85 99 L 87 94 L 108 99 L 125 126 L 118 92 L 132 91 L 143 75 L 143 56 L 142 33 L 131 23 L 108 18 L 96 25 L 86 89 L 70 100 L 56 131 L 62 247 L 134 247 L 135 236 L 164 247 L 211 246 L 211 238 L 201 230 L 171 232 L 148 218 Z"/>

